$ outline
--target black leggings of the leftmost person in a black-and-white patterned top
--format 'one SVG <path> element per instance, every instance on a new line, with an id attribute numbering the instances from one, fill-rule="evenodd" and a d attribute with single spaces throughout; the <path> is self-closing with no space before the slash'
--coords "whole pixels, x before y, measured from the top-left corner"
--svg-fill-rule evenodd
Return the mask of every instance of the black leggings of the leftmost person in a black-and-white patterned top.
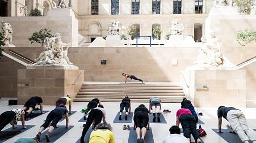
<path id="1" fill-rule="evenodd" d="M 2 131 L 3 128 L 5 128 L 5 126 L 7 124 L 9 124 L 16 116 L 16 113 L 14 111 L 6 111 L 3 112 L 0 115 L 0 131 Z"/>

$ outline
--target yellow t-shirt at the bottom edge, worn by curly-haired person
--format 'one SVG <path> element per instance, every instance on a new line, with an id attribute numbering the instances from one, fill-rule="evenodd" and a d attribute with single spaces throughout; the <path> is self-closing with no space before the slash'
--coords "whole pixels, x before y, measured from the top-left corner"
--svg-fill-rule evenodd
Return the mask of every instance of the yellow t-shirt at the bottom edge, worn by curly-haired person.
<path id="1" fill-rule="evenodd" d="M 114 133 L 108 129 L 96 129 L 91 132 L 89 143 L 115 143 Z"/>

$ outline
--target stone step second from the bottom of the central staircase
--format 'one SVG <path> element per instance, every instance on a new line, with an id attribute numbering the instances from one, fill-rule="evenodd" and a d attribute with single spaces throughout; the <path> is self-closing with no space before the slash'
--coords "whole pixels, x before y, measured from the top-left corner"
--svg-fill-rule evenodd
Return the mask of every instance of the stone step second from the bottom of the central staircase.
<path id="1" fill-rule="evenodd" d="M 152 96 L 129 96 L 130 99 L 149 99 Z M 183 99 L 184 96 L 155 96 L 155 97 L 159 97 L 162 101 L 162 99 Z M 102 95 L 78 95 L 75 98 L 111 98 L 111 99 L 119 99 L 119 101 L 121 101 L 121 99 L 124 98 L 124 96 L 102 96 Z"/>

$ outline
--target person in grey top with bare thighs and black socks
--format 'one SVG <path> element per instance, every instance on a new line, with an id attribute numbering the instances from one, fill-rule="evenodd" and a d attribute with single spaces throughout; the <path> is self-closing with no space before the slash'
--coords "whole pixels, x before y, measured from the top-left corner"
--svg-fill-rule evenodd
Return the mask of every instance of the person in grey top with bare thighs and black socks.
<path id="1" fill-rule="evenodd" d="M 161 108 L 161 99 L 158 97 L 152 97 L 149 99 L 149 112 L 152 109 L 153 112 L 153 122 L 156 122 L 156 113 L 157 113 L 157 122 L 160 120 L 160 108 Z"/>

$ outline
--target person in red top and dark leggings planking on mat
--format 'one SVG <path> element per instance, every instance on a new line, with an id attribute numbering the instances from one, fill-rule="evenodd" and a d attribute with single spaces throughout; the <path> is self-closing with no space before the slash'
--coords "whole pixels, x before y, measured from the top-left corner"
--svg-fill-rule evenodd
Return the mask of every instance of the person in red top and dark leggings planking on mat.
<path id="1" fill-rule="evenodd" d="M 182 125 L 183 135 L 190 141 L 190 135 L 194 137 L 197 143 L 201 143 L 199 133 L 196 131 L 196 119 L 189 109 L 179 109 L 176 114 L 176 125 Z"/>

